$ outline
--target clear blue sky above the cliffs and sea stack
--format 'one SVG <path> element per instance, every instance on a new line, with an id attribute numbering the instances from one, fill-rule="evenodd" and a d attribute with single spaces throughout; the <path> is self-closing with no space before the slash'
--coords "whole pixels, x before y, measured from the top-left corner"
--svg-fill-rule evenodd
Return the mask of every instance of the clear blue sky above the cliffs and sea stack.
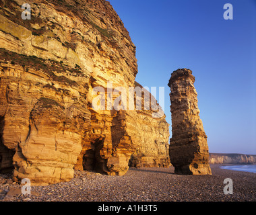
<path id="1" fill-rule="evenodd" d="M 210 153 L 256 155 L 256 0 L 110 3 L 137 46 L 136 81 L 165 87 L 167 122 L 170 75 L 191 69 Z M 223 17 L 225 3 L 233 20 Z"/>

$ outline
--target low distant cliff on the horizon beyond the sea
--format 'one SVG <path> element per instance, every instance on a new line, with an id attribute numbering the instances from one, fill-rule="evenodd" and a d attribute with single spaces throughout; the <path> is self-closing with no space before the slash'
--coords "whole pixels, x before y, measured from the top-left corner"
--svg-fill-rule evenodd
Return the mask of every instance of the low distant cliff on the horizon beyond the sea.
<path id="1" fill-rule="evenodd" d="M 256 155 L 210 153 L 210 164 L 256 164 Z"/>

